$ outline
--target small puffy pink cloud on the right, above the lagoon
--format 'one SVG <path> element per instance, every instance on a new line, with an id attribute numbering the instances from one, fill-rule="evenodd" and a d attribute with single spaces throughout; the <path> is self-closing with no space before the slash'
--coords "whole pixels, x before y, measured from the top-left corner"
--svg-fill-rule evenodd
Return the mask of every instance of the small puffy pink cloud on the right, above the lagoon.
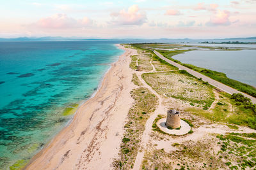
<path id="1" fill-rule="evenodd" d="M 212 17 L 207 25 L 230 25 L 230 12 L 218 10 Z"/>

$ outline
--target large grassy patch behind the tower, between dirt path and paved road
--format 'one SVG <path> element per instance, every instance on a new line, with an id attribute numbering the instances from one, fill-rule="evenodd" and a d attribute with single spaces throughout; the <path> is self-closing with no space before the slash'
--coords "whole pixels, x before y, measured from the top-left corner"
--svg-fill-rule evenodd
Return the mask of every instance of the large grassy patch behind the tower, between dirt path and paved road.
<path id="1" fill-rule="evenodd" d="M 210 85 L 189 76 L 187 73 L 177 71 L 166 73 L 145 73 L 142 78 L 158 94 L 163 97 L 173 97 L 188 102 L 190 105 L 205 108 L 214 101 L 214 94 Z"/>

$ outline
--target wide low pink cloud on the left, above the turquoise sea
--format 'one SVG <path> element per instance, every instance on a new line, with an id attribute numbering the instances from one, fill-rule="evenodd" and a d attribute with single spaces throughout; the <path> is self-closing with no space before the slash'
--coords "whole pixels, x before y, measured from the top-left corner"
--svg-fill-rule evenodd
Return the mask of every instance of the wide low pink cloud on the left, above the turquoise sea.
<path id="1" fill-rule="evenodd" d="M 67 15 L 58 13 L 52 15 L 51 17 L 41 18 L 36 22 L 36 27 L 41 27 L 45 29 L 69 29 L 76 27 L 86 27 L 92 24 L 92 20 L 84 17 L 81 20 L 76 20 L 74 18 L 67 17 Z"/>

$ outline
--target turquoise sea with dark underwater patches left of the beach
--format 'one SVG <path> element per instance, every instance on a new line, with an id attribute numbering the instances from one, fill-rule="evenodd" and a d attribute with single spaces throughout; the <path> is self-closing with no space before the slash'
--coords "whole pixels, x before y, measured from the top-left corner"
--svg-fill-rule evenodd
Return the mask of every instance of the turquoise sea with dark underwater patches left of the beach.
<path id="1" fill-rule="evenodd" d="M 121 53 L 111 41 L 0 42 L 0 169 L 59 132 Z"/>

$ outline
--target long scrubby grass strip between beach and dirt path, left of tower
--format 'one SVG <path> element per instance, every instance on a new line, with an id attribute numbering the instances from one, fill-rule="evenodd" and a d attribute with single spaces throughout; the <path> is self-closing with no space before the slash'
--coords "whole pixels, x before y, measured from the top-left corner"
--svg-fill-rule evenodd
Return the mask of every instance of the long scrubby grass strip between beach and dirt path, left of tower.
<path id="1" fill-rule="evenodd" d="M 133 89 L 131 96 L 134 98 L 134 105 L 129 110 L 128 120 L 124 125 L 125 133 L 120 146 L 120 158 L 113 162 L 118 169 L 133 167 L 140 147 L 141 135 L 145 130 L 145 123 L 150 114 L 156 110 L 158 100 L 154 94 L 143 87 Z"/>

